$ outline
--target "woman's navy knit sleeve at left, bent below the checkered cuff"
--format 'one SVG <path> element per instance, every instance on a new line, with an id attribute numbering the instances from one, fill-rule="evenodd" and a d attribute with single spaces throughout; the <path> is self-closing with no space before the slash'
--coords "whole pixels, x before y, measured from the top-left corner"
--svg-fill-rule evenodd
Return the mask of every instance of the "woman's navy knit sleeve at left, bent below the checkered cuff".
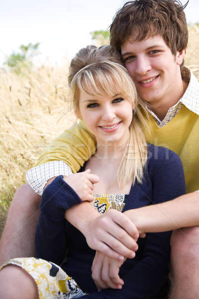
<path id="1" fill-rule="evenodd" d="M 78 194 L 60 175 L 49 184 L 41 197 L 40 216 L 35 233 L 36 256 L 60 265 L 67 251 L 65 210 L 80 203 Z"/>

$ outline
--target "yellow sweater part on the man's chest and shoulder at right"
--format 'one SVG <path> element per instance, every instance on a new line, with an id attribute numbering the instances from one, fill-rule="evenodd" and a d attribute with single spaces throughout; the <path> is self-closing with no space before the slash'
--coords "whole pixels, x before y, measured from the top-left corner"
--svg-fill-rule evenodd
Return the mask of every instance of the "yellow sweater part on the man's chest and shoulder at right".
<path id="1" fill-rule="evenodd" d="M 143 128 L 147 142 L 175 151 L 183 162 L 187 193 L 199 190 L 199 116 L 183 105 L 163 128 L 149 117 L 151 134 Z"/>

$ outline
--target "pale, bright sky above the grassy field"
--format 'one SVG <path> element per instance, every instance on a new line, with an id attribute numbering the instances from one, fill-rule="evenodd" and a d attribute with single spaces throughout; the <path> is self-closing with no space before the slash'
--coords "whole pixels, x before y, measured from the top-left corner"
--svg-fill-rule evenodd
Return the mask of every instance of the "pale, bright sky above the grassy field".
<path id="1" fill-rule="evenodd" d="M 0 64 L 21 44 L 40 42 L 43 61 L 62 61 L 92 43 L 91 31 L 106 29 L 125 0 L 0 0 Z M 182 0 L 185 3 L 186 0 Z M 199 0 L 185 10 L 188 22 L 199 22 Z"/>

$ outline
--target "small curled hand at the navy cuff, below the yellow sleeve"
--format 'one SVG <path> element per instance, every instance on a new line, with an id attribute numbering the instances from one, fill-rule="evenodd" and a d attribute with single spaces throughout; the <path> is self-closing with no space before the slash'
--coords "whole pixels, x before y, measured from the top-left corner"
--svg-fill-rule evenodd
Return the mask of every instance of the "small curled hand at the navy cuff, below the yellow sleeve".
<path id="1" fill-rule="evenodd" d="M 64 175 L 64 180 L 75 190 L 82 201 L 93 201 L 94 184 L 100 181 L 96 174 L 91 173 L 91 169 L 83 172 L 74 173 L 71 175 Z"/>

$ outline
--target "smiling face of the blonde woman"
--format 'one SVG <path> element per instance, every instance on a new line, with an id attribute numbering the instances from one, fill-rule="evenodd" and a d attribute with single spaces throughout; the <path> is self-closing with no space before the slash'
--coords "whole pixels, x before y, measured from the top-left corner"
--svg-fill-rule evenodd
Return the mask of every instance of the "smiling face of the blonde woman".
<path id="1" fill-rule="evenodd" d="M 83 119 L 98 144 L 126 144 L 132 121 L 132 104 L 121 94 L 92 96 L 81 91 L 76 115 Z"/>

